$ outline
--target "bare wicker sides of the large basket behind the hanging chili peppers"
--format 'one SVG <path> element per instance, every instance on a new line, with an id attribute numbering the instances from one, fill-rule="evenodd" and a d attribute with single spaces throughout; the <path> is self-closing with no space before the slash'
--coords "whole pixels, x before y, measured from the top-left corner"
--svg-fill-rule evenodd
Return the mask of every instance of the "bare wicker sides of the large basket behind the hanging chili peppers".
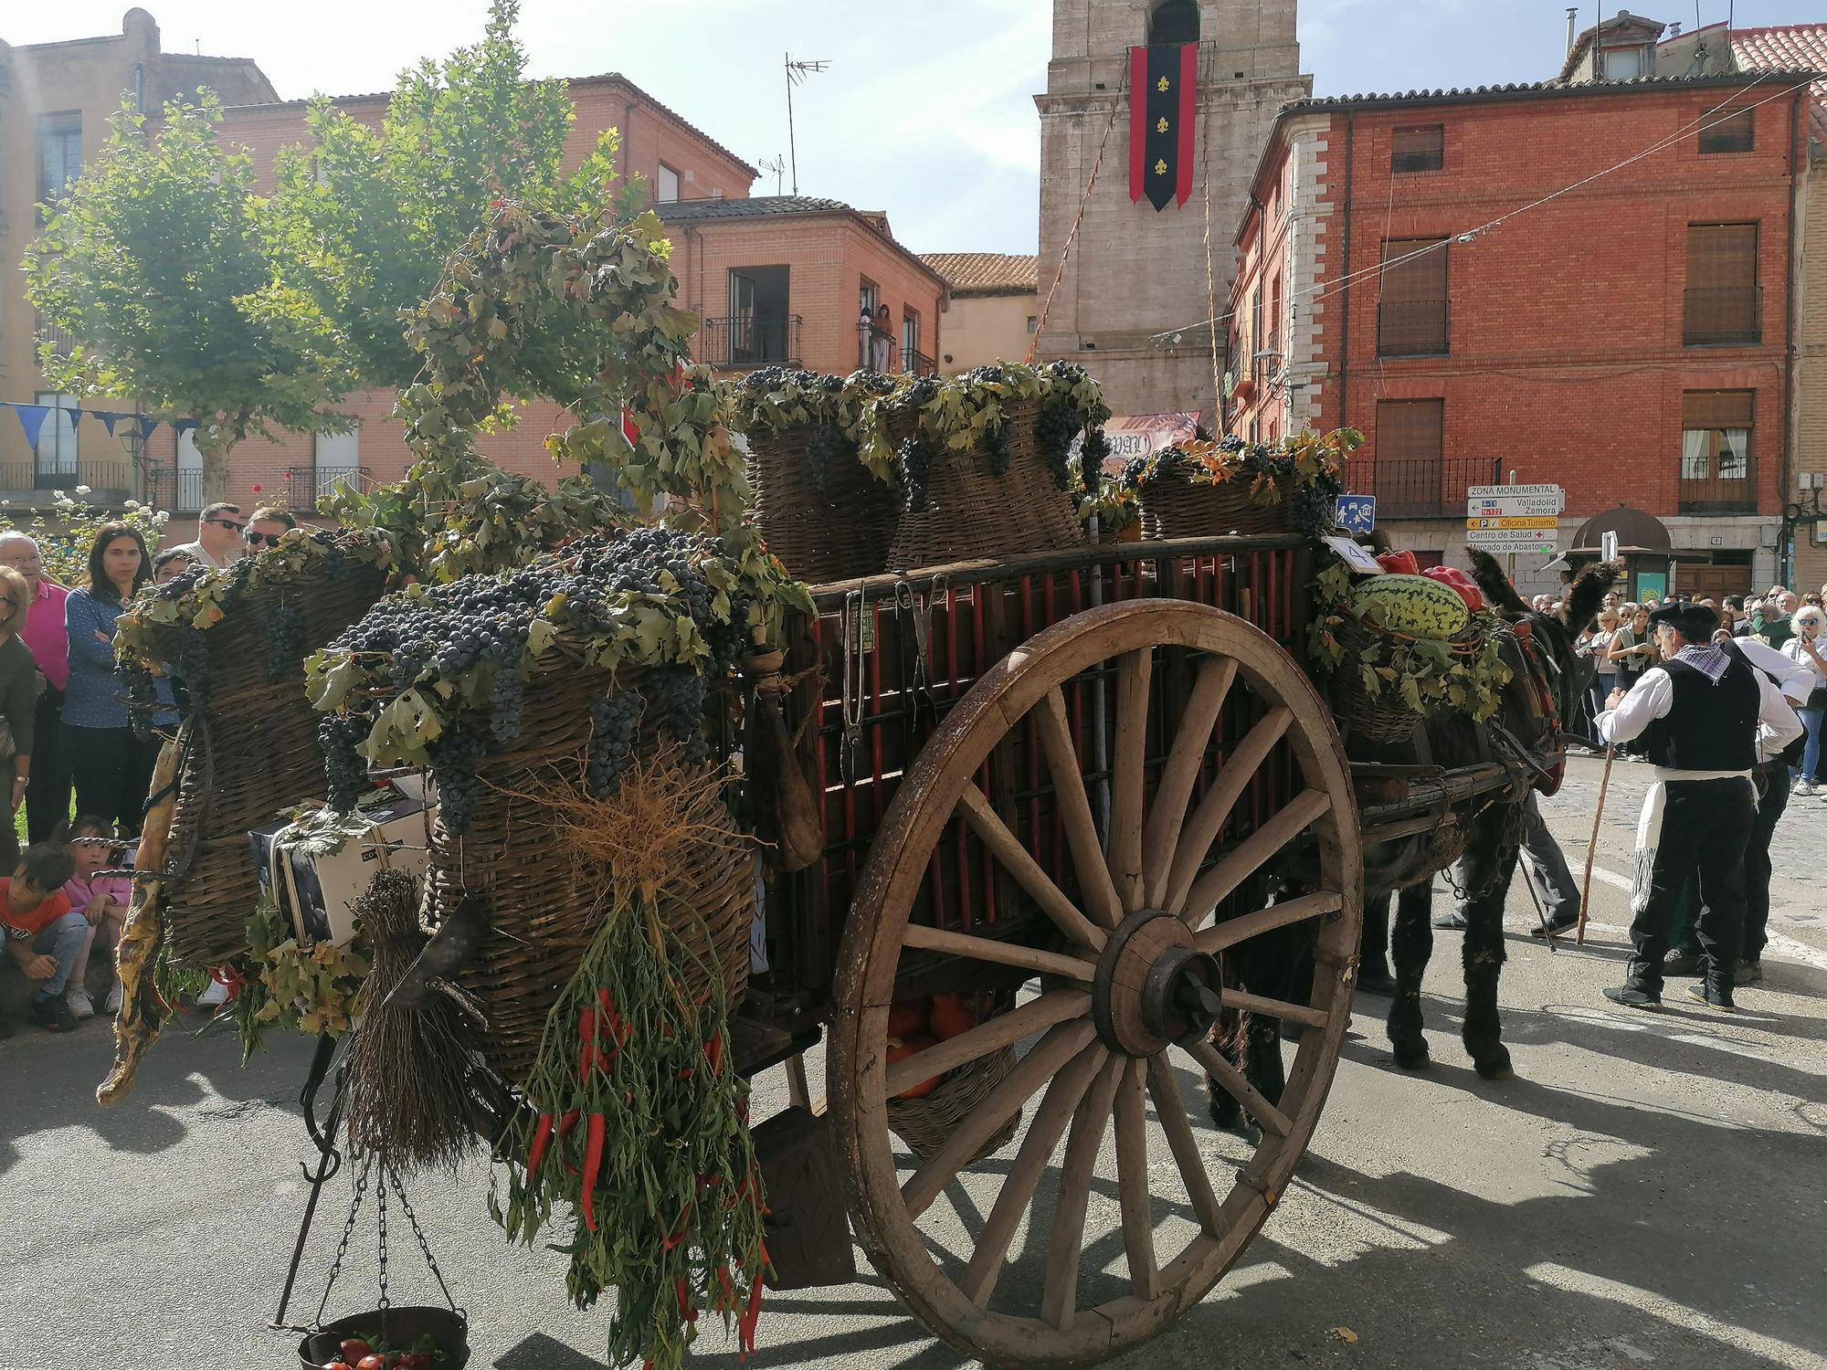
<path id="1" fill-rule="evenodd" d="M 639 683 L 639 670 L 614 678 L 623 689 Z M 603 877 L 583 869 L 552 826 L 550 809 L 532 798 L 554 787 L 576 789 L 590 742 L 590 700 L 608 689 L 607 670 L 576 663 L 528 681 L 521 736 L 491 751 L 477 767 L 479 796 L 470 829 L 453 837 L 431 829 L 431 919 L 442 922 L 466 897 L 486 901 L 488 935 L 457 975 L 482 1010 L 482 1054 L 510 1083 L 524 1083 L 539 1056 L 546 1016 L 601 924 Z M 645 723 L 643 723 L 645 732 Z M 645 738 L 643 751 L 652 745 Z M 755 864 L 747 849 L 702 846 L 685 862 L 694 888 L 680 891 L 696 910 L 674 921 L 700 961 L 714 961 L 734 1006 L 749 979 L 749 921 L 755 910 Z M 687 966 L 692 996 L 709 988 L 709 975 Z"/>

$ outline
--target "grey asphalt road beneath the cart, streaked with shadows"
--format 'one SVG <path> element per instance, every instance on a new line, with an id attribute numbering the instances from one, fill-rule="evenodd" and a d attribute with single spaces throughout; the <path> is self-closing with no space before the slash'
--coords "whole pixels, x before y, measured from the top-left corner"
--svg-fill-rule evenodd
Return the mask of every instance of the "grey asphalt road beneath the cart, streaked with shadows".
<path id="1" fill-rule="evenodd" d="M 1575 871 L 1597 778 L 1579 760 L 1544 804 Z M 1778 829 L 1778 937 L 1743 1012 L 1642 1016 L 1599 990 L 1619 975 L 1644 780 L 1613 771 L 1584 950 L 1531 943 L 1520 882 L 1513 893 L 1502 1005 L 1518 1080 L 1480 1081 L 1460 1050 L 1456 935 L 1442 933 L 1434 1065 L 1398 1070 L 1385 1001 L 1359 996 L 1281 1209 L 1219 1291 L 1118 1365 L 1827 1366 L 1827 802 L 1796 800 Z M 292 1096 L 307 1054 L 287 1043 L 239 1069 L 227 1036 L 170 1036 L 104 1112 L 100 1025 L 0 1041 L 0 1370 L 296 1365 L 267 1323 L 305 1195 Z M 1235 1147 L 1200 1136 L 1215 1154 Z M 473 1169 L 413 1189 L 470 1310 L 471 1365 L 599 1365 L 607 1313 L 565 1304 L 561 1257 L 502 1244 L 484 1186 Z M 316 1308 L 345 1206 L 333 1186 L 294 1317 Z M 371 1246 L 367 1228 L 331 1313 L 373 1306 Z M 1120 1242 L 1091 1249 L 1120 1268 Z M 435 1297 L 411 1255 L 393 1271 L 396 1301 Z M 764 1368 L 963 1365 L 873 1277 L 771 1297 L 760 1341 L 749 1365 Z M 734 1363 L 720 1337 L 703 1346 L 705 1363 Z"/>

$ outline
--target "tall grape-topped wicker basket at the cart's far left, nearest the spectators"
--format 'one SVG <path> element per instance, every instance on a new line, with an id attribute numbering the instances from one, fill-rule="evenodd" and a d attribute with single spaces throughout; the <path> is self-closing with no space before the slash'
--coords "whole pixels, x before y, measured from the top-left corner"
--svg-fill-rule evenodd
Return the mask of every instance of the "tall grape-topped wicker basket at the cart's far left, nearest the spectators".
<path id="1" fill-rule="evenodd" d="M 323 798 L 305 658 L 362 617 L 385 586 L 391 543 L 373 530 L 298 528 L 225 570 L 192 568 L 143 590 L 115 652 L 144 722 L 152 672 L 174 678 L 186 722 L 164 882 L 170 955 L 194 968 L 247 948 L 259 875 L 247 835 Z"/>

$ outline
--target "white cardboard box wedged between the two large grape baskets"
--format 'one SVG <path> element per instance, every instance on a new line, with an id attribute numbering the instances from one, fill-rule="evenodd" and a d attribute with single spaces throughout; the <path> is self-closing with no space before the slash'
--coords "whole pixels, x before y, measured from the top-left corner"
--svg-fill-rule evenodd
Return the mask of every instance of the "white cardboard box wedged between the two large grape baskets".
<path id="1" fill-rule="evenodd" d="M 426 806 L 395 791 L 385 802 L 365 806 L 364 813 L 373 820 L 367 833 L 333 853 L 298 851 L 289 822 L 256 827 L 247 835 L 259 871 L 259 890 L 290 917 L 300 946 L 325 939 L 336 946 L 347 943 L 354 935 L 351 906 L 376 871 L 396 869 L 415 879 L 426 875 Z"/>

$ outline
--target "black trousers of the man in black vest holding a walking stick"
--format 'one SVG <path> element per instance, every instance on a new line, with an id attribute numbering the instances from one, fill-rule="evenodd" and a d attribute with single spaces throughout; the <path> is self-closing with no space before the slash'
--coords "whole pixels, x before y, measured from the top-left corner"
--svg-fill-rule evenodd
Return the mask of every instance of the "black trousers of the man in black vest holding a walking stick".
<path id="1" fill-rule="evenodd" d="M 1624 972 L 1630 988 L 1661 996 L 1675 904 L 1688 880 L 1699 880 L 1701 915 L 1694 933 L 1706 959 L 1703 974 L 1708 985 L 1730 992 L 1745 935 L 1745 851 L 1754 820 L 1748 780 L 1668 782 L 1648 897 L 1639 891 L 1630 922 L 1635 948 Z"/>

